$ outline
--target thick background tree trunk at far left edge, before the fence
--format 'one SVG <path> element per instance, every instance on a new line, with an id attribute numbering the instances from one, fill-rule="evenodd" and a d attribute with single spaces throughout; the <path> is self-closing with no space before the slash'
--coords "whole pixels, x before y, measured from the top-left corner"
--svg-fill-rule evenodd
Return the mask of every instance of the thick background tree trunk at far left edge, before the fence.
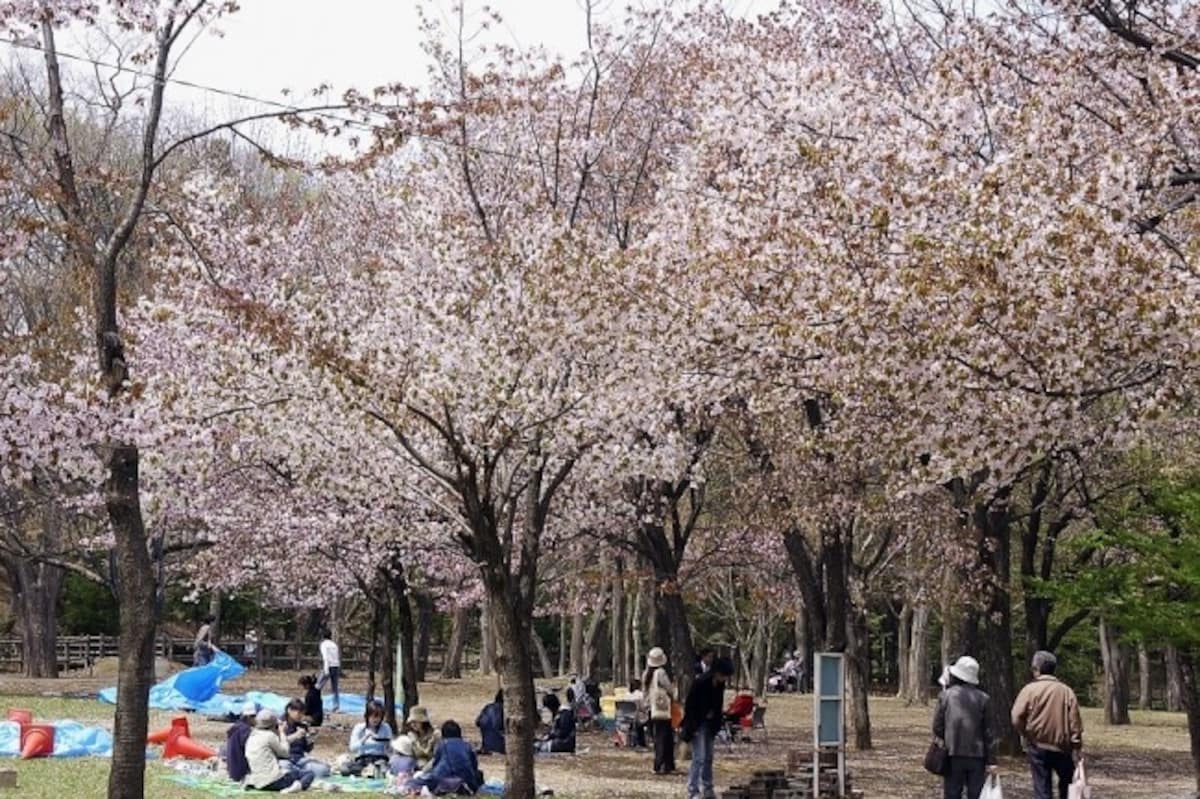
<path id="1" fill-rule="evenodd" d="M 25 677 L 59 675 L 58 603 L 66 571 L 26 558 L 6 558 Z"/>

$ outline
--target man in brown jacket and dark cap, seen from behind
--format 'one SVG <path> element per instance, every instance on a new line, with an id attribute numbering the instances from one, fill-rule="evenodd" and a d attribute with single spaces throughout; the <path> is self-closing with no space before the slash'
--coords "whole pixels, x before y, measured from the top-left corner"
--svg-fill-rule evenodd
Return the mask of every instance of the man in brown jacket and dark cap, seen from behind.
<path id="1" fill-rule="evenodd" d="M 1067 799 L 1075 774 L 1075 756 L 1084 746 L 1084 721 L 1075 692 L 1054 675 L 1058 660 L 1048 651 L 1033 655 L 1033 681 L 1013 703 L 1013 727 L 1025 741 L 1033 773 L 1034 799 L 1052 799 L 1052 775 L 1058 797 Z"/>

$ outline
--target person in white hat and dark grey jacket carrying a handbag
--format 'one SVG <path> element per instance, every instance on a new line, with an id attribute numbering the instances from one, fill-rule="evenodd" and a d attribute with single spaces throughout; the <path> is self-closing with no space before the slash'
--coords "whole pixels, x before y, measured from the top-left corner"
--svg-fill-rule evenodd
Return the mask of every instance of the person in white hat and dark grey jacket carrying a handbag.
<path id="1" fill-rule="evenodd" d="M 946 743 L 942 780 L 944 799 L 979 799 L 988 774 L 996 773 L 991 732 L 991 697 L 979 689 L 979 663 L 959 657 L 949 668 L 948 686 L 934 713 L 934 737 Z"/>

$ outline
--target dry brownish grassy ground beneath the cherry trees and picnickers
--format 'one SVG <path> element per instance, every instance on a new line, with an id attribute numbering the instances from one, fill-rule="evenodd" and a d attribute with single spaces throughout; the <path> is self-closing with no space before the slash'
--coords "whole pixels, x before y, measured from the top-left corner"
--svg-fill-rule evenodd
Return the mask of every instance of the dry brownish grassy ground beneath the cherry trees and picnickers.
<path id="1" fill-rule="evenodd" d="M 350 675 L 347 690 L 361 691 L 362 685 Z M 294 691 L 294 675 L 282 673 L 251 674 L 234 684 L 232 690 L 260 689 L 281 693 Z M 72 679 L 30 681 L 0 678 L 0 711 L 7 707 L 32 709 L 38 719 L 74 719 L 83 722 L 112 725 L 112 708 L 94 699 L 61 698 L 56 692 L 95 691 L 103 687 L 100 680 Z M 428 705 L 437 721 L 456 719 L 468 732 L 479 707 L 496 690 L 490 679 L 468 679 L 455 683 L 430 683 L 421 686 L 422 703 Z M 151 727 L 169 722 L 172 714 L 156 713 Z M 1164 713 L 1134 713 L 1132 727 L 1104 727 L 1097 713 L 1085 711 L 1090 773 L 1098 798 L 1109 799 L 1184 799 L 1195 789 L 1188 755 L 1188 737 L 1183 717 Z M 941 795 L 935 777 L 920 768 L 928 744 L 929 708 L 905 708 L 886 698 L 872 698 L 871 719 L 876 749 L 871 752 L 851 752 L 850 768 L 854 786 L 866 797 L 887 799 L 929 799 Z M 332 759 L 344 745 L 349 727 L 356 721 L 336 716 L 322 734 L 319 757 Z M 763 768 L 782 768 L 787 752 L 803 749 L 811 741 L 810 697 L 770 697 L 767 713 L 767 740 L 739 744 L 733 751 L 718 747 L 718 787 L 742 780 Z M 216 746 L 224 738 L 226 725 L 192 719 L 196 738 Z M 539 782 L 553 788 L 557 797 L 569 799 L 650 799 L 684 795 L 683 776 L 655 776 L 650 771 L 650 756 L 644 751 L 613 749 L 601 734 L 581 734 L 581 753 L 551 756 L 538 761 Z M 503 777 L 504 764 L 497 758 L 482 758 L 488 776 Z M 686 763 L 682 763 L 685 768 Z M 31 799 L 62 799 L 103 797 L 108 764 L 103 759 L 32 761 L 12 765 L 18 771 L 19 788 L 14 794 Z M 1002 764 L 1004 795 L 1008 799 L 1030 799 L 1027 771 L 1024 763 Z M 164 779 L 169 774 L 161 763 L 151 763 L 148 771 L 146 797 L 154 799 L 196 799 L 196 792 Z M 0 791 L 0 795 L 4 792 Z"/>

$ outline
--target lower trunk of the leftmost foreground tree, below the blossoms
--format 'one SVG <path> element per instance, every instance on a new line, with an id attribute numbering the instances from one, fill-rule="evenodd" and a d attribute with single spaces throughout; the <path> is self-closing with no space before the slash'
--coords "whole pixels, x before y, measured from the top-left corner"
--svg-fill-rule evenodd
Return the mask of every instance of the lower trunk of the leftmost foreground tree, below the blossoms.
<path id="1" fill-rule="evenodd" d="M 108 797 L 143 799 L 157 619 L 154 564 L 146 546 L 138 492 L 137 447 L 113 445 L 108 456 L 108 474 L 106 504 L 116 554 L 116 601 L 121 625 Z"/>

